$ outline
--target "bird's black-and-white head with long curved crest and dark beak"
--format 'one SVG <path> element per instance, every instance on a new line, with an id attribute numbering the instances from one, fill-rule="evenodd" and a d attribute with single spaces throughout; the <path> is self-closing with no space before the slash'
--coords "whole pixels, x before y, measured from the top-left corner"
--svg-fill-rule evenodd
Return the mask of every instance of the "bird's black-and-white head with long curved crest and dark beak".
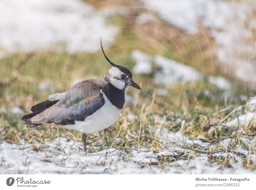
<path id="1" fill-rule="evenodd" d="M 132 72 L 129 69 L 127 69 L 121 65 L 116 65 L 108 59 L 108 57 L 106 56 L 106 54 L 102 48 L 101 38 L 100 38 L 100 46 L 101 46 L 102 52 L 104 54 L 104 57 L 107 59 L 108 63 L 110 63 L 110 65 L 113 66 L 107 72 L 108 81 L 113 86 L 115 86 L 116 88 L 118 88 L 120 90 L 123 90 L 126 87 L 130 87 L 130 86 L 141 90 L 140 86 L 137 85 L 132 80 Z"/>

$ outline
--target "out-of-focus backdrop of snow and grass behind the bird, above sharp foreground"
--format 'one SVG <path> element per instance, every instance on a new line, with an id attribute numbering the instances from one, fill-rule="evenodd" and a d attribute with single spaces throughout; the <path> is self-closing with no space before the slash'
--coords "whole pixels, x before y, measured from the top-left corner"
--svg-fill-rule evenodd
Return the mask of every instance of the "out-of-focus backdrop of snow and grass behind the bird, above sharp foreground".
<path id="1" fill-rule="evenodd" d="M 155 118 L 225 116 L 255 93 L 255 10 L 250 0 L 1 1 L 1 128 L 23 130 L 30 106 L 107 72 L 100 37 L 142 86 L 124 113 L 152 103 Z"/>

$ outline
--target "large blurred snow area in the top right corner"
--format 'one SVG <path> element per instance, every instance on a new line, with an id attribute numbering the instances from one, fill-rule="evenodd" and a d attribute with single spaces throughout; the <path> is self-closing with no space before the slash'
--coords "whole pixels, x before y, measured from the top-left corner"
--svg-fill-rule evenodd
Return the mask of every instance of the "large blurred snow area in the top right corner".
<path id="1" fill-rule="evenodd" d="M 154 1 L 144 0 L 150 10 L 158 10 L 160 17 L 175 28 L 186 33 L 197 33 L 207 27 L 215 38 L 217 56 L 220 64 L 230 67 L 232 75 L 241 80 L 254 77 L 254 58 L 256 43 L 250 41 L 254 36 L 255 20 L 253 15 L 255 2 L 180 0 Z M 248 40 L 249 39 L 249 40 Z M 250 55 L 250 60 L 248 55 Z"/>

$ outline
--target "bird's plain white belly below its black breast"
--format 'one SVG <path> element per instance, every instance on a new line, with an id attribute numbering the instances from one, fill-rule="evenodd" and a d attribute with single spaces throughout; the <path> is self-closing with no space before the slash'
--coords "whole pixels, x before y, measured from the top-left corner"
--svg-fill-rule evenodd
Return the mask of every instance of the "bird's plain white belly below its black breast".
<path id="1" fill-rule="evenodd" d="M 119 118 L 121 110 L 113 106 L 103 94 L 105 104 L 84 121 L 76 121 L 75 125 L 66 125 L 66 128 L 80 131 L 82 133 L 93 133 L 101 131 L 113 125 Z"/>

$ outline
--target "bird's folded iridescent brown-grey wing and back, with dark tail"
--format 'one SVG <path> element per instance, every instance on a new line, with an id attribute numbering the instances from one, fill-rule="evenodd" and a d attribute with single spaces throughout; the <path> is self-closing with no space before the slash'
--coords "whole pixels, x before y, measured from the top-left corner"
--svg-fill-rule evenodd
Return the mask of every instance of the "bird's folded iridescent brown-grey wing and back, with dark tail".
<path id="1" fill-rule="evenodd" d="M 59 100 L 58 100 L 59 99 Z M 101 87 L 94 80 L 75 84 L 67 92 L 52 95 L 42 103 L 32 106 L 32 113 L 22 117 L 25 124 L 43 123 L 74 125 L 84 121 L 104 105 Z"/>

